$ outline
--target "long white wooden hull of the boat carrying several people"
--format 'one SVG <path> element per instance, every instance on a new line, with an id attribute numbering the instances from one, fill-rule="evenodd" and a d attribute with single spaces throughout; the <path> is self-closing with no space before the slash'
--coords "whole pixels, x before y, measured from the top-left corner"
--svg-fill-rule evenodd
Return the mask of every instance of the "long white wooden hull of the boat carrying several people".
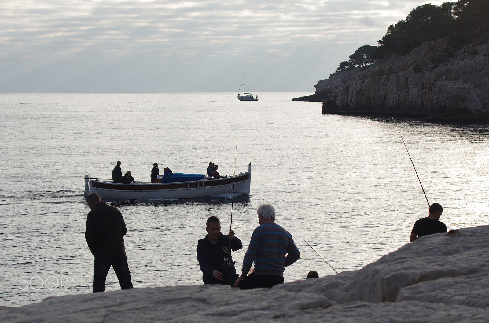
<path id="1" fill-rule="evenodd" d="M 193 199 L 209 195 L 243 193 L 249 195 L 251 182 L 251 162 L 248 171 L 236 176 L 221 179 L 208 177 L 191 182 L 130 184 L 114 183 L 85 176 L 85 195 L 97 193 L 102 199 L 140 200 L 140 199 Z"/>

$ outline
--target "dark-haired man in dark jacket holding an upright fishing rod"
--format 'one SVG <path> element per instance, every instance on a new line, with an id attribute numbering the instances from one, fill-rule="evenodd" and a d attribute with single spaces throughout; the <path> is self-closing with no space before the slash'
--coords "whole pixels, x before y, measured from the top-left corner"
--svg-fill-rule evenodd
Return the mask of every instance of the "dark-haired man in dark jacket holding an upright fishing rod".
<path id="1" fill-rule="evenodd" d="M 229 230 L 229 236 L 221 233 L 221 222 L 215 216 L 207 219 L 205 231 L 208 234 L 199 240 L 197 245 L 197 260 L 202 271 L 204 284 L 221 284 L 232 286 L 238 274 L 231 257 L 232 251 L 243 248 L 241 240 Z"/>

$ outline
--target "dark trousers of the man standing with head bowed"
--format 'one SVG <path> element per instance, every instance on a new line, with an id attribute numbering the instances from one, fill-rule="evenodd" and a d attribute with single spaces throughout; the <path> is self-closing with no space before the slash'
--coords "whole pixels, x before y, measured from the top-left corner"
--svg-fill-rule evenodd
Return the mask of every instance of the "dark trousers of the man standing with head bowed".
<path id="1" fill-rule="evenodd" d="M 93 293 L 105 291 L 105 280 L 111 266 L 117 275 L 121 289 L 133 288 L 131 272 L 129 271 L 125 252 L 117 255 L 94 255 L 94 257 Z"/>

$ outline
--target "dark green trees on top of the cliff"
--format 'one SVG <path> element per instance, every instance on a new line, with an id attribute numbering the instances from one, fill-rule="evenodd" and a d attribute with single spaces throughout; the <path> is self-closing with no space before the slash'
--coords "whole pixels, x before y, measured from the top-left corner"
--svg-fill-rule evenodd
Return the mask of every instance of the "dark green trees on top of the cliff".
<path id="1" fill-rule="evenodd" d="M 387 28 L 372 58 L 383 58 L 389 53 L 404 55 L 423 42 L 440 37 L 460 39 L 477 29 L 482 32 L 488 18 L 489 0 L 459 0 L 441 6 L 423 4 L 414 8 L 405 20 Z"/>

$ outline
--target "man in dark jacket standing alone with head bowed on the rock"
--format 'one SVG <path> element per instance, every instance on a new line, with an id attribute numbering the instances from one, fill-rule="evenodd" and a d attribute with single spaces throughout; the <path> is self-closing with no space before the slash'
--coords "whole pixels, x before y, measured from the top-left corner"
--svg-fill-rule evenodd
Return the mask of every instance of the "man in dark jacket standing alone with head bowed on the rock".
<path id="1" fill-rule="evenodd" d="M 127 229 L 122 214 L 117 208 L 102 202 L 100 196 L 95 193 L 87 197 L 87 203 L 91 211 L 87 216 L 85 239 L 95 258 L 93 293 L 105 290 L 105 280 L 111 266 L 121 289 L 133 288 L 123 238 Z"/>

